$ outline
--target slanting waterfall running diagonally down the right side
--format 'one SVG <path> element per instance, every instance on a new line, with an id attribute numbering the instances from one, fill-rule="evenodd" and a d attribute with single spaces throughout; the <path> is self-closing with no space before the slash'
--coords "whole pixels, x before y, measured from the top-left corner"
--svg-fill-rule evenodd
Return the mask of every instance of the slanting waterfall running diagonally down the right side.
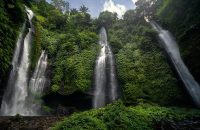
<path id="1" fill-rule="evenodd" d="M 179 77 L 184 83 L 194 103 L 200 107 L 200 86 L 184 64 L 174 37 L 169 31 L 163 30 L 157 23 L 150 23 L 152 27 L 159 33 L 159 38 L 162 40 L 163 47 L 169 55 L 171 62 L 173 63 Z"/>

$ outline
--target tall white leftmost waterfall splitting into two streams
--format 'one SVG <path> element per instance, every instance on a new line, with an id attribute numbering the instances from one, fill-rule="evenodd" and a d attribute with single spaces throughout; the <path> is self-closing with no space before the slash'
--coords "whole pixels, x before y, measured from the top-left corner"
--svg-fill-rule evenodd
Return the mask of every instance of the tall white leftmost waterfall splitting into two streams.
<path id="1" fill-rule="evenodd" d="M 22 38 L 24 27 L 19 36 L 12 61 L 13 69 L 2 100 L 1 115 L 32 115 L 26 105 L 26 97 L 28 96 L 29 49 L 33 33 L 31 20 L 34 14 L 28 8 L 26 8 L 26 11 L 31 28 L 29 28 L 24 41 Z M 20 52 L 22 52 L 21 57 Z"/>

